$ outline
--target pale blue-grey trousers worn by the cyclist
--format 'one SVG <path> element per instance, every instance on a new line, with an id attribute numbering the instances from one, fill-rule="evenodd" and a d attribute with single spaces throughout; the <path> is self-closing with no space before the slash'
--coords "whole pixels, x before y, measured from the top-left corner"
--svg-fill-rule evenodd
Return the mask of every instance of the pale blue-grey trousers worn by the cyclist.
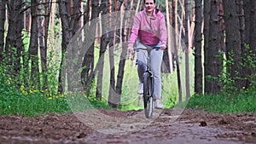
<path id="1" fill-rule="evenodd" d="M 158 43 L 153 47 L 160 46 L 161 43 Z M 145 48 L 145 46 L 137 42 L 137 48 Z M 140 82 L 143 82 L 143 73 L 147 70 L 147 57 L 148 52 L 145 50 L 137 51 L 137 73 Z M 154 74 L 154 98 L 161 99 L 162 83 L 161 83 L 161 63 L 163 59 L 163 50 L 153 49 L 150 53 L 150 69 Z"/>

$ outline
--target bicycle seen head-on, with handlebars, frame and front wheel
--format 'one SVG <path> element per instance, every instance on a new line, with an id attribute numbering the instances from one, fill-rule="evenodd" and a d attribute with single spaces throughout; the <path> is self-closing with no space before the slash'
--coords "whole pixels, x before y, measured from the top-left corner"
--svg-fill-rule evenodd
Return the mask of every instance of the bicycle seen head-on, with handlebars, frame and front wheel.
<path id="1" fill-rule="evenodd" d="M 144 45 L 144 44 L 143 44 Z M 147 57 L 147 69 L 143 73 L 143 103 L 144 103 L 144 112 L 146 118 L 153 117 L 153 101 L 154 101 L 154 78 L 153 72 L 150 70 L 150 53 L 151 50 L 158 50 L 159 47 L 151 48 L 148 45 L 144 45 L 146 48 L 137 48 L 138 50 L 146 50 L 148 52 Z"/>

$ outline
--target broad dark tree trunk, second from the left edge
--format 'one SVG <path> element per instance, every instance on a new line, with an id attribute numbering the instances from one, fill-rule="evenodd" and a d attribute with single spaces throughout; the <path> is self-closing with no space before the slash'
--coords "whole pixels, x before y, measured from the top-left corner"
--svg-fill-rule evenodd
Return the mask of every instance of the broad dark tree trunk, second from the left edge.
<path id="1" fill-rule="evenodd" d="M 9 77 L 20 78 L 20 56 L 24 51 L 21 31 L 23 28 L 22 0 L 8 1 L 9 10 L 9 28 L 5 42 L 5 57 L 7 59 L 7 68 Z M 20 84 L 18 84 L 19 86 Z"/>

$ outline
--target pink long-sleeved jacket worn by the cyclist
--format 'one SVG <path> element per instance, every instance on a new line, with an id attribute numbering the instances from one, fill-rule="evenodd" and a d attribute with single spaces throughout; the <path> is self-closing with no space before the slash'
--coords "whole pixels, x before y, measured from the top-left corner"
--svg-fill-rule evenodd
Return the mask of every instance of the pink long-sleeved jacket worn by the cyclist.
<path id="1" fill-rule="evenodd" d="M 138 40 L 147 45 L 156 45 L 157 43 L 166 43 L 166 19 L 165 15 L 158 12 L 149 18 L 146 11 L 143 10 L 135 15 L 133 26 L 131 29 L 131 37 L 129 47 Z"/>

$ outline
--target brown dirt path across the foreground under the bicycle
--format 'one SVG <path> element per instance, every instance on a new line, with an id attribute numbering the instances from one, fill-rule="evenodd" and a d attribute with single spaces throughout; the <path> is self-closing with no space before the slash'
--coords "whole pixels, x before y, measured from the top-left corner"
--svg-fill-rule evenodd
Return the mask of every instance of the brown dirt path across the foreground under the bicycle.
<path id="1" fill-rule="evenodd" d="M 98 118 L 102 122 L 95 121 L 96 113 L 93 113 L 94 118 L 89 118 L 88 113 L 83 115 L 101 125 L 99 128 L 79 118 L 81 113 L 50 113 L 37 118 L 1 116 L 0 143 L 256 143 L 256 113 L 216 114 L 187 109 L 181 115 L 173 115 L 172 110 L 164 110 L 152 121 L 146 119 L 140 123 L 131 119 L 134 116 L 141 120 L 139 113 L 143 111 L 97 112 L 124 119 L 122 123 L 119 120 L 107 123 L 106 118 Z M 132 123 L 126 123 L 127 119 Z M 117 133 L 110 135 L 111 130 Z"/>

